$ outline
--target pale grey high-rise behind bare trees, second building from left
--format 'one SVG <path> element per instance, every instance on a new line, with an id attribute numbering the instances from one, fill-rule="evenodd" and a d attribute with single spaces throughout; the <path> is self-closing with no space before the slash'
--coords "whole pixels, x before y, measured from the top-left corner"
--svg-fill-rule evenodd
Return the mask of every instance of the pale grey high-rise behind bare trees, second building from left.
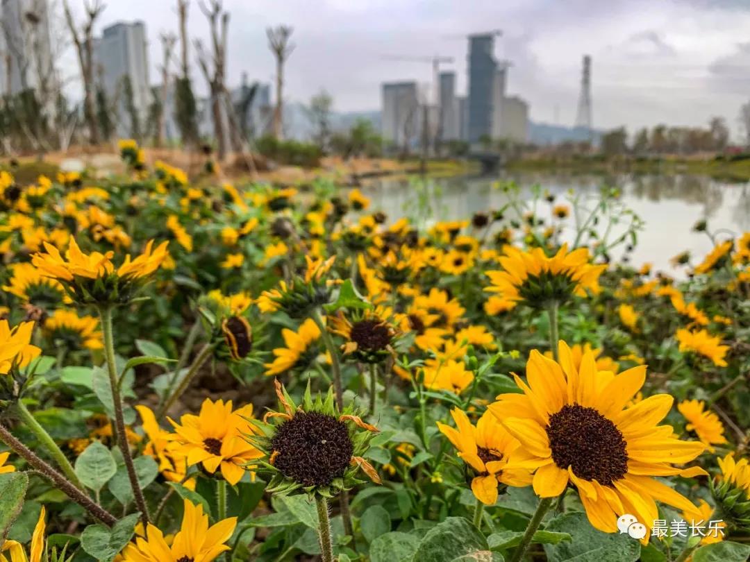
<path id="1" fill-rule="evenodd" d="M 145 23 L 117 22 L 104 28 L 94 42 L 94 78 L 104 86 L 110 100 L 118 99 L 118 136 L 133 132 L 124 99 L 125 84 L 130 81 L 133 106 L 141 121 L 145 120 L 151 103 L 148 82 L 148 45 Z"/>

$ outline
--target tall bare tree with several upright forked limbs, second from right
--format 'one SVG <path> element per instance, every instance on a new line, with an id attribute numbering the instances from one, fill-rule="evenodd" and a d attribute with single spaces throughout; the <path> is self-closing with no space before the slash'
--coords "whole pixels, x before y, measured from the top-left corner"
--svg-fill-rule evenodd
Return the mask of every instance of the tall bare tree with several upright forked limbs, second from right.
<path id="1" fill-rule="evenodd" d="M 224 95 L 224 77 L 226 74 L 226 30 L 229 27 L 229 12 L 223 10 L 221 0 L 209 0 L 208 5 L 201 2 L 200 9 L 208 19 L 211 28 L 211 57 L 203 49 L 200 40 L 195 41 L 200 69 L 208 82 L 211 92 L 211 118 L 214 121 L 214 136 L 217 144 L 217 158 L 223 161 L 226 156 L 226 138 L 224 134 L 224 115 L 222 97 Z M 213 63 L 213 68 L 210 63 Z"/>

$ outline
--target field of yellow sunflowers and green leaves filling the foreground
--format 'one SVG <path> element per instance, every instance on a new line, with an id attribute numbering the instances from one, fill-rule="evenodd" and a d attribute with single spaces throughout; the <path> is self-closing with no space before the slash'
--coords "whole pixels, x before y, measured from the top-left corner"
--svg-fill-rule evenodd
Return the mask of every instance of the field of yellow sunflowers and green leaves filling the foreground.
<path id="1" fill-rule="evenodd" d="M 750 558 L 750 232 L 121 157 L 0 172 L 0 561 Z"/>

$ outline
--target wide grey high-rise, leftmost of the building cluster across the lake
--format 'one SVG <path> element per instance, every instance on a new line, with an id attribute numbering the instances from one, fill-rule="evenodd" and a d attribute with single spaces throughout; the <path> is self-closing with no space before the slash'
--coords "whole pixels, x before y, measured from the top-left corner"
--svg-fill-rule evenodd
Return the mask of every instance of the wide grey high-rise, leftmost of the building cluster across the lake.
<path id="1" fill-rule="evenodd" d="M 383 84 L 383 140 L 398 148 L 410 148 L 419 141 L 419 96 L 416 82 Z"/>

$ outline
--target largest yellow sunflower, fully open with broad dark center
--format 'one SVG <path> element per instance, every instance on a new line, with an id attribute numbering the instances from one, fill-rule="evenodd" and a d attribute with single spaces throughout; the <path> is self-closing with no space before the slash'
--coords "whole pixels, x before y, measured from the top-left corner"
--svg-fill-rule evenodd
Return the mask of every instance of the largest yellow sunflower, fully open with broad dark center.
<path id="1" fill-rule="evenodd" d="M 697 508 L 654 477 L 706 474 L 702 468 L 673 468 L 705 449 L 680 441 L 671 426 L 658 426 L 673 398 L 658 394 L 625 405 L 640 390 L 646 367 L 619 375 L 599 371 L 586 351 L 576 369 L 571 351 L 559 342 L 560 361 L 532 351 L 526 380 L 515 375 L 523 394 L 498 396 L 489 410 L 520 441 L 519 468 L 535 471 L 533 487 L 542 498 L 555 498 L 574 485 L 589 522 L 605 533 L 617 531 L 622 513 L 649 527 L 658 519 L 655 501 L 695 513 Z"/>

